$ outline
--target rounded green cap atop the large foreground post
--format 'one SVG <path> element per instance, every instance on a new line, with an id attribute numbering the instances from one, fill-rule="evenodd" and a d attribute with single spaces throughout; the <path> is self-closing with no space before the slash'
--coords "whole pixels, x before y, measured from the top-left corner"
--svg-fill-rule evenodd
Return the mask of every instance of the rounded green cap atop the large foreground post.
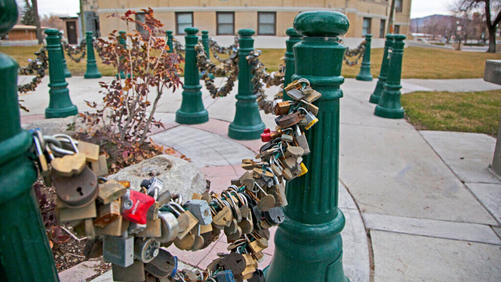
<path id="1" fill-rule="evenodd" d="M 346 34 L 350 21 L 334 11 L 303 12 L 294 19 L 294 29 L 304 36 L 336 37 Z"/>

